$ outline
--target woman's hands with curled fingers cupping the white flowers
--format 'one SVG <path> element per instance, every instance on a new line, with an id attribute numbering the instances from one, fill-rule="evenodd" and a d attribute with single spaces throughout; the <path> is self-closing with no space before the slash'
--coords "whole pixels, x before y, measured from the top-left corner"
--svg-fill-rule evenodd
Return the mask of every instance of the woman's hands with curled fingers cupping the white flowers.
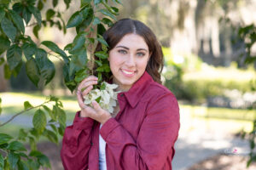
<path id="1" fill-rule="evenodd" d="M 90 90 L 93 88 L 94 84 L 97 84 L 97 77 L 90 76 L 85 78 L 82 82 L 80 82 L 78 91 L 77 91 L 77 98 L 79 101 L 79 106 L 81 108 L 80 116 L 81 117 L 90 117 L 97 122 L 101 122 L 104 124 L 108 121 L 109 118 L 111 118 L 110 113 L 108 111 L 105 111 L 101 108 L 101 106 L 96 102 L 93 101 L 92 105 L 93 108 L 87 105 L 84 105 L 84 95 L 87 95 L 90 93 Z"/>

